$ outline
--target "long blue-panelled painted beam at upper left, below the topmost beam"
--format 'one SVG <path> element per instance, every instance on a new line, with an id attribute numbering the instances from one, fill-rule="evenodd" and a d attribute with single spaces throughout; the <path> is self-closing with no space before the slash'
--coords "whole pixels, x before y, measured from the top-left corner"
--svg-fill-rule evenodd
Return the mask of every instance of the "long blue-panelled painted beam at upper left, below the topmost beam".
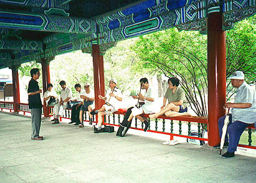
<path id="1" fill-rule="evenodd" d="M 41 30 L 45 32 L 90 33 L 96 31 L 92 20 L 52 16 L 31 12 L 0 11 L 0 28 Z"/>

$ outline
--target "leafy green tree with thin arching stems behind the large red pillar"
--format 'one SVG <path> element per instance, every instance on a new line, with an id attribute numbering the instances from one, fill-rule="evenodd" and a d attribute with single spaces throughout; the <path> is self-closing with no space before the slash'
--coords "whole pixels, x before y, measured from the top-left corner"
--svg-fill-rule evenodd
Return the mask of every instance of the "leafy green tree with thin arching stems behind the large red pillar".
<path id="1" fill-rule="evenodd" d="M 255 17 L 239 22 L 227 32 L 227 77 L 243 71 L 248 83 L 255 83 Z M 140 58 L 136 67 L 157 69 L 177 76 L 192 110 L 207 116 L 207 37 L 198 32 L 178 32 L 175 28 L 144 35 L 131 48 Z M 232 87 L 227 95 L 232 96 Z"/>

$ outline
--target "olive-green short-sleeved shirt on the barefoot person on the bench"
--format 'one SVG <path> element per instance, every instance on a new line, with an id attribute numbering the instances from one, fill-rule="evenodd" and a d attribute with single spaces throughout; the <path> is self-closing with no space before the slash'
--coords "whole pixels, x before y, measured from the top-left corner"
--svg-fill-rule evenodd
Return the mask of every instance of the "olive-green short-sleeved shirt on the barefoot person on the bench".
<path id="1" fill-rule="evenodd" d="M 164 98 L 168 99 L 168 103 L 183 100 L 183 107 L 187 107 L 189 105 L 189 104 L 187 104 L 185 92 L 180 87 L 177 87 L 174 94 L 173 94 L 173 89 L 169 89 L 169 87 L 168 87 L 168 89 L 166 90 L 166 93 L 164 95 Z"/>

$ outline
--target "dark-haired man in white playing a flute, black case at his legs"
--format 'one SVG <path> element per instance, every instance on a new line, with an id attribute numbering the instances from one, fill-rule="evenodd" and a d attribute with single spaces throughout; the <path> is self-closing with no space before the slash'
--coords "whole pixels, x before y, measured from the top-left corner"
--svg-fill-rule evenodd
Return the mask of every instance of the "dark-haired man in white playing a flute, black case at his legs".
<path id="1" fill-rule="evenodd" d="M 145 101 L 145 104 L 142 105 L 139 109 L 137 107 L 134 107 L 133 109 L 131 109 L 131 114 L 129 118 L 126 121 L 123 121 L 122 123 L 119 123 L 119 124 L 122 127 L 127 127 L 128 123 L 131 122 L 131 120 L 135 116 L 141 122 L 145 123 L 144 131 L 146 132 L 148 130 L 148 121 L 145 118 L 143 118 L 142 115 L 156 113 L 160 110 L 160 107 L 157 107 L 157 105 L 154 102 L 152 88 L 149 87 L 148 79 L 141 78 L 140 83 L 141 83 L 141 89 L 146 90 L 145 96 L 143 96 L 142 94 L 138 94 L 138 96 L 133 96 L 133 99 L 143 100 Z"/>

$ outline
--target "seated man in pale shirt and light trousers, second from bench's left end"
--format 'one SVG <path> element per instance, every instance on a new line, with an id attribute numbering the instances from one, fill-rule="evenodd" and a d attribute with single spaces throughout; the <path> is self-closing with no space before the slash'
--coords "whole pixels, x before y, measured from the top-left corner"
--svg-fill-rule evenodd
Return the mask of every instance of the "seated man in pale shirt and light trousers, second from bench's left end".
<path id="1" fill-rule="evenodd" d="M 69 87 L 66 86 L 65 81 L 60 81 L 60 86 L 62 87 L 62 90 L 60 91 L 60 101 L 58 104 L 54 105 L 54 119 L 52 120 L 52 124 L 58 124 L 59 122 L 59 111 L 60 106 L 63 107 L 63 109 L 67 109 L 67 102 L 69 102 L 69 99 L 72 97 L 72 91 L 69 89 Z"/>

